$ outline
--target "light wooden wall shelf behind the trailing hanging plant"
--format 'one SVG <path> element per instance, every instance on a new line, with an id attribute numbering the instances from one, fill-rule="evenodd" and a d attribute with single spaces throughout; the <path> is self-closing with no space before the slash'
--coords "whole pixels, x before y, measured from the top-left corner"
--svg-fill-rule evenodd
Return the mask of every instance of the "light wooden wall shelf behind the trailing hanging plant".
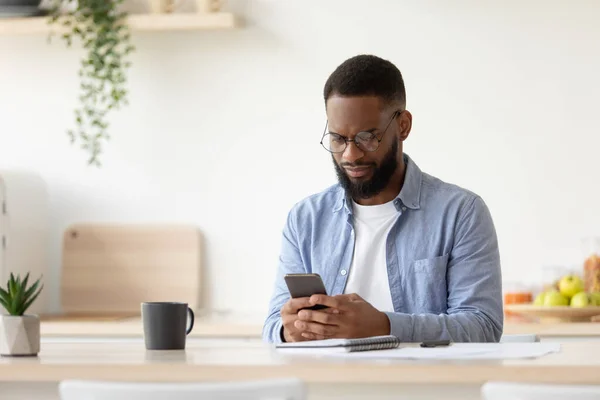
<path id="1" fill-rule="evenodd" d="M 48 18 L 0 18 L 0 35 L 48 34 L 51 30 L 60 32 L 60 21 L 49 25 Z M 216 30 L 238 26 L 235 15 L 225 12 L 130 14 L 127 22 L 132 32 Z"/>

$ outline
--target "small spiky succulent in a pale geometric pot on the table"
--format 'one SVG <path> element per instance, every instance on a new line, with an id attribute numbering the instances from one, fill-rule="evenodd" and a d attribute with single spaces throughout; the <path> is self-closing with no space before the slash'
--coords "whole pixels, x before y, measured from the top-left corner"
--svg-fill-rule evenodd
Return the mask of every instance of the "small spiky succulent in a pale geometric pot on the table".
<path id="1" fill-rule="evenodd" d="M 25 314 L 44 287 L 38 289 L 40 279 L 28 286 L 29 273 L 23 280 L 11 273 L 6 287 L 0 287 L 0 304 L 8 312 L 0 315 L 0 355 L 35 356 L 40 351 L 40 318 Z"/>

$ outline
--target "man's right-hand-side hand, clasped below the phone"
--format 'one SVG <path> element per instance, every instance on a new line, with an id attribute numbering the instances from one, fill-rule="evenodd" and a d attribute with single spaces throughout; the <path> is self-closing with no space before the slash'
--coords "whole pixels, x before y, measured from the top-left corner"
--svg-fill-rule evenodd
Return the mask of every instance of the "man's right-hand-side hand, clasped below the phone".
<path id="1" fill-rule="evenodd" d="M 322 304 L 326 310 L 301 310 L 293 324 L 294 337 L 302 340 L 362 338 L 390 334 L 390 321 L 383 312 L 357 294 L 313 295 L 300 308 Z M 283 316 L 283 314 L 282 314 Z M 285 326 L 285 321 L 284 321 Z M 287 340 L 287 337 L 286 337 Z"/>

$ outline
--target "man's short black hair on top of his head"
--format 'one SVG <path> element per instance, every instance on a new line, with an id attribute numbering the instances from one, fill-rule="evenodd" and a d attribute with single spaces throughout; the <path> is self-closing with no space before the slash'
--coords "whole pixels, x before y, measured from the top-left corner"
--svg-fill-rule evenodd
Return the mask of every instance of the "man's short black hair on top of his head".
<path id="1" fill-rule="evenodd" d="M 323 96 L 377 96 L 388 103 L 406 106 L 406 90 L 400 70 L 388 60 L 361 54 L 347 59 L 331 73 Z"/>

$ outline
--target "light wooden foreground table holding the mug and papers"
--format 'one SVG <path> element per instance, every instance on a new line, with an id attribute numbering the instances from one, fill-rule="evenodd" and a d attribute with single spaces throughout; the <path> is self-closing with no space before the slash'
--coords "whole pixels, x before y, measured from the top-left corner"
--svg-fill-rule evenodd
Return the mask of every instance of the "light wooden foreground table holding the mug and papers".
<path id="1" fill-rule="evenodd" d="M 309 385 L 311 399 L 361 398 L 361 393 L 368 398 L 433 399 L 443 393 L 445 399 L 477 399 L 488 380 L 600 384 L 599 368 L 596 342 L 561 344 L 559 353 L 538 359 L 453 362 L 290 356 L 258 340 L 196 339 L 188 341 L 185 351 L 161 352 L 146 351 L 141 339 L 45 339 L 38 357 L 0 358 L 0 398 L 57 399 L 63 379 L 202 382 L 293 376 Z"/>

